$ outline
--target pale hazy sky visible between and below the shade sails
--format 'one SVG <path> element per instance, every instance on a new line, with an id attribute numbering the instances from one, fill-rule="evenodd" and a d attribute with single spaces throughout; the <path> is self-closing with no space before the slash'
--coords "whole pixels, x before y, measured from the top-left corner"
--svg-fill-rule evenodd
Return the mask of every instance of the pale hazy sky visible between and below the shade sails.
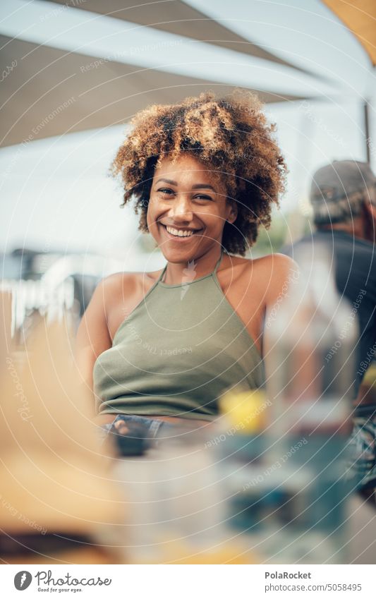
<path id="1" fill-rule="evenodd" d="M 189 4 L 199 9 L 203 6 L 196 0 Z M 56 8 L 59 5 L 40 0 L 5 0 L 0 8 L 0 32 L 72 51 L 79 45 L 80 52 L 99 57 L 119 52 L 119 20 L 90 18 L 91 13 L 73 8 L 55 15 L 51 11 L 56 13 Z M 41 20 L 46 11 L 50 11 L 50 18 Z M 145 51 L 135 60 L 140 66 L 163 65 L 171 72 L 217 80 L 221 71 L 222 80 L 234 85 L 241 85 L 246 75 L 246 83 L 255 85 L 257 81 L 266 90 L 309 89 L 317 95 L 309 102 L 266 107 L 269 119 L 277 123 L 277 139 L 289 166 L 281 210 L 283 214 L 307 214 L 310 176 L 315 169 L 333 159 L 365 159 L 365 97 L 370 100 L 371 137 L 375 139 L 375 80 L 368 56 L 318 0 L 205 0 L 205 12 L 248 40 L 317 73 L 320 79 L 297 75 L 298 71 L 291 74 L 285 67 L 270 68 L 260 60 L 249 68 L 250 59 L 239 52 L 191 40 L 177 44 L 174 52 L 165 52 L 164 44 L 160 52 Z M 120 27 L 128 25 L 120 23 Z M 134 25 L 129 29 L 134 30 Z M 151 39 L 154 43 L 171 41 L 169 34 L 145 29 L 138 28 L 137 32 L 145 36 L 145 47 Z M 131 47 L 131 34 L 126 40 Z M 124 36 L 121 48 L 126 62 Z M 125 131 L 126 126 L 115 126 L 0 149 L 0 250 L 26 246 L 105 255 L 136 251 L 141 235 L 136 217 L 131 208 L 119 208 L 121 189 L 108 175 Z M 375 145 L 371 156 L 374 169 Z"/>

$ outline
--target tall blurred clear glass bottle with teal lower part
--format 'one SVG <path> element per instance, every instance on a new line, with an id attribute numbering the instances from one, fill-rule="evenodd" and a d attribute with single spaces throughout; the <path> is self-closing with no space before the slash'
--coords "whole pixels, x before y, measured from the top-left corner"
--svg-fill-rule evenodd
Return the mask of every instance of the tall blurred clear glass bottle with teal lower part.
<path id="1" fill-rule="evenodd" d="M 356 394 L 356 313 L 340 298 L 329 256 L 302 253 L 300 277 L 290 285 L 265 333 L 269 438 L 274 461 L 297 478 L 309 473 L 303 511 L 291 521 L 315 535 L 321 555 L 345 559 L 346 500 L 351 492 L 346 446 Z M 346 482 L 347 481 L 347 482 Z M 297 530 L 298 532 L 298 530 Z M 301 537 L 302 538 L 302 537 Z M 332 558 L 330 554 L 332 553 Z"/>

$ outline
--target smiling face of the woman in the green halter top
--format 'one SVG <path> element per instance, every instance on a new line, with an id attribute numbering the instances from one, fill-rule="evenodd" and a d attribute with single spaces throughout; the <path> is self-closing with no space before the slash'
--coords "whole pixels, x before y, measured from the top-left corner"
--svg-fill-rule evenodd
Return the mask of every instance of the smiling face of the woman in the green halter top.
<path id="1" fill-rule="evenodd" d="M 169 262 L 189 262 L 222 248 L 226 220 L 234 222 L 236 207 L 204 164 L 192 155 L 174 164 L 165 158 L 155 169 L 147 226 Z"/>

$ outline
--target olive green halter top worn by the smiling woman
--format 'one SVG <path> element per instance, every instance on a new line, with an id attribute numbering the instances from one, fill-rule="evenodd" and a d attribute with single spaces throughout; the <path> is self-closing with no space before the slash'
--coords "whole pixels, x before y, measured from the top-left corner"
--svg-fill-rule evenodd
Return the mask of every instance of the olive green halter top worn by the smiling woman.
<path id="1" fill-rule="evenodd" d="M 217 270 L 166 285 L 166 267 L 94 367 L 100 413 L 212 420 L 218 398 L 261 387 L 260 353 L 221 289 Z"/>

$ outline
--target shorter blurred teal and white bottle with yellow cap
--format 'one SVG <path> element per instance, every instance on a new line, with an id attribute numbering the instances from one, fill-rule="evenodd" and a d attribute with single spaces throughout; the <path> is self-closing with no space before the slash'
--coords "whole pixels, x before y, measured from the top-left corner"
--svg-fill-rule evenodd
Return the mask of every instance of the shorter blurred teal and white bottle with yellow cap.
<path id="1" fill-rule="evenodd" d="M 289 525 L 298 514 L 301 528 L 305 524 L 301 514 L 311 473 L 294 473 L 284 454 L 276 459 L 271 406 L 263 390 L 231 389 L 220 402 L 217 460 L 226 482 L 229 536 L 241 538 L 262 563 L 293 563 L 301 555 L 291 547 Z"/>

